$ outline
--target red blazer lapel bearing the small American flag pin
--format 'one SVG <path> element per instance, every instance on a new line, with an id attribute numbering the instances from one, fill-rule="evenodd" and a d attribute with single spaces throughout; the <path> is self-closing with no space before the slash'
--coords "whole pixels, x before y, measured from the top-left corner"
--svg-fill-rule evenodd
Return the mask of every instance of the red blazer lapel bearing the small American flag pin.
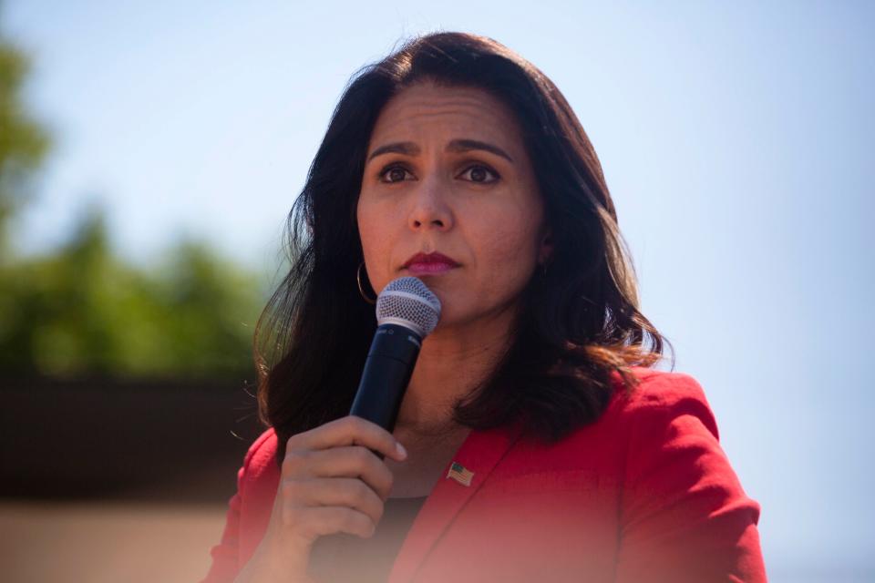
<path id="1" fill-rule="evenodd" d="M 514 424 L 487 431 L 471 430 L 452 461 L 444 468 L 441 478 L 432 488 L 407 532 L 407 537 L 398 551 L 395 564 L 389 574 L 388 583 L 407 583 L 413 580 L 418 568 L 427 558 L 428 552 L 438 542 L 438 538 L 456 517 L 458 511 L 482 486 L 510 446 L 519 439 L 521 429 L 521 424 Z M 469 486 L 462 483 L 465 481 L 464 478 L 459 481 L 448 476 L 449 468 L 454 462 L 473 473 L 473 476 L 470 476 Z"/>

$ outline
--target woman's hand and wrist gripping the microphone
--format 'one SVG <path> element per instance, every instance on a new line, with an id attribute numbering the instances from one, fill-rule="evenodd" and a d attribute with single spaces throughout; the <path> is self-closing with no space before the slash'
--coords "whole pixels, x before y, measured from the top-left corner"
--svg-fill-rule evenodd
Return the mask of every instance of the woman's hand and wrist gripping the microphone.
<path id="1" fill-rule="evenodd" d="M 392 489 L 386 455 L 407 458 L 394 435 L 355 415 L 290 437 L 267 532 L 235 581 L 309 582 L 316 538 L 373 536 Z"/>

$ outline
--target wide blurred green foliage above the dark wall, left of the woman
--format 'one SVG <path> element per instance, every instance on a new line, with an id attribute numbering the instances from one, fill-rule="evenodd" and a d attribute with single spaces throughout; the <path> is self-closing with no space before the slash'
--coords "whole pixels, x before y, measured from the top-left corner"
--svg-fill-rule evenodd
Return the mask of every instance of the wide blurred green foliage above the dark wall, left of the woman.
<path id="1" fill-rule="evenodd" d="M 56 253 L 0 265 L 0 370 L 252 378 L 264 302 L 252 274 L 196 241 L 149 271 L 118 261 L 102 211 L 88 210 Z"/>

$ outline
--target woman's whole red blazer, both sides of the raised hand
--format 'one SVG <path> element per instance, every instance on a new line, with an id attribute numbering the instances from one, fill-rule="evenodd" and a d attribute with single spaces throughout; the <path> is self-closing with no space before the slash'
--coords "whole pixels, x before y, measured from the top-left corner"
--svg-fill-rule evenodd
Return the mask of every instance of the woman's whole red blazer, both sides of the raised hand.
<path id="1" fill-rule="evenodd" d="M 616 391 L 597 422 L 558 444 L 520 426 L 472 430 L 454 457 L 470 485 L 438 481 L 389 583 L 766 581 L 760 508 L 717 442 L 702 388 L 681 373 L 633 371 L 631 395 Z M 205 583 L 232 581 L 261 542 L 276 445 L 268 430 L 245 456 Z"/>

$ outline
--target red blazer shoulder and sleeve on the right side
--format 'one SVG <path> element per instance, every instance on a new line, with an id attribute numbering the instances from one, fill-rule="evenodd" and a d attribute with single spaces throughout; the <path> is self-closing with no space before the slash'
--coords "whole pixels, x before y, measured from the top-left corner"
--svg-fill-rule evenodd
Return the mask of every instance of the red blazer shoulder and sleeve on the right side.
<path id="1" fill-rule="evenodd" d="M 623 557 L 617 580 L 639 581 L 683 566 L 696 581 L 765 581 L 757 522 L 719 444 L 700 384 L 684 373 L 634 371 L 609 409 L 623 427 Z M 663 578 L 659 578 L 663 580 Z"/>

